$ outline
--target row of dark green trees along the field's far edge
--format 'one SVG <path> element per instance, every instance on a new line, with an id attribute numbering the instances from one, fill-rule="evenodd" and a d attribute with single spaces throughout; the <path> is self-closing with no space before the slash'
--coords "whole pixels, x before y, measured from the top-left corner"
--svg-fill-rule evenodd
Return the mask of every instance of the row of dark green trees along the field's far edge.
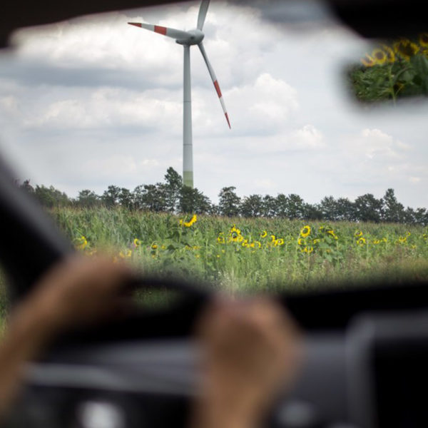
<path id="1" fill-rule="evenodd" d="M 146 210 L 157 213 L 196 213 L 225 215 L 228 217 L 265 217 L 325 221 L 370 221 L 374 223 L 407 223 L 428 225 L 426 208 L 404 208 L 394 195 L 394 190 L 386 190 L 382 198 L 371 193 L 358 196 L 354 201 L 348 198 L 326 196 L 320 203 L 310 204 L 291 193 L 271 195 L 249 195 L 240 198 L 235 187 L 222 188 L 218 194 L 218 204 L 212 203 L 197 188 L 183 185 L 180 174 L 172 167 L 165 173 L 164 181 L 156 184 L 138 185 L 134 190 L 109 185 L 102 195 L 84 189 L 76 198 L 68 198 L 66 193 L 44 185 L 33 187 L 25 180 L 19 187 L 34 195 L 47 208 L 76 206 L 93 208 L 121 206 L 129 210 Z"/>

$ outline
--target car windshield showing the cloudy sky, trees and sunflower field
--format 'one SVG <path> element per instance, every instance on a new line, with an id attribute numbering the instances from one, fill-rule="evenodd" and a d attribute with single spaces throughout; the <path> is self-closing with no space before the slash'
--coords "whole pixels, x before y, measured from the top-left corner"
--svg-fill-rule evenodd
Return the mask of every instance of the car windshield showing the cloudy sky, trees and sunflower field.
<path id="1" fill-rule="evenodd" d="M 0 121 L 19 185 L 78 251 L 146 272 L 245 291 L 426 277 L 427 103 L 358 105 L 347 66 L 379 44 L 317 3 L 210 4 L 215 78 L 190 46 L 190 187 L 185 57 L 162 29 L 195 29 L 198 9 L 17 31 Z"/>

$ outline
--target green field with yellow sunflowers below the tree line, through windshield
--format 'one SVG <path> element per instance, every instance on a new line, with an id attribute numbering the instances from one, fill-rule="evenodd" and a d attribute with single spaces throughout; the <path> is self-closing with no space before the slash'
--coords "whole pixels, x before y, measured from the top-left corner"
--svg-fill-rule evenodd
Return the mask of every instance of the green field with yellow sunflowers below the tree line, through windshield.
<path id="1" fill-rule="evenodd" d="M 143 272 L 231 292 L 428 279 L 428 230 L 417 225 L 177 216 L 123 208 L 50 211 L 76 250 Z"/>

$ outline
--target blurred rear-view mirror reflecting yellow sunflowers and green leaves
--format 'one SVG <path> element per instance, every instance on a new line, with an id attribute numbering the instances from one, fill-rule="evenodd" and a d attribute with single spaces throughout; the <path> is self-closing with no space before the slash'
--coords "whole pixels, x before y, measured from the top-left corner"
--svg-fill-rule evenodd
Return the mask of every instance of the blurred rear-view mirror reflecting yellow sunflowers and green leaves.
<path id="1" fill-rule="evenodd" d="M 428 96 L 428 33 L 375 46 L 350 68 L 349 78 L 364 102 Z"/>

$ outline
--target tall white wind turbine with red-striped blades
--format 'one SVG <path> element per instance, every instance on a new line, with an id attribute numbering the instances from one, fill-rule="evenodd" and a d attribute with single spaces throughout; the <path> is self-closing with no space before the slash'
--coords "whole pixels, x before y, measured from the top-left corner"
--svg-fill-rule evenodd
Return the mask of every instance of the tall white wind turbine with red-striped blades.
<path id="1" fill-rule="evenodd" d="M 228 126 L 230 128 L 230 121 L 228 112 L 226 111 L 225 103 L 223 101 L 223 96 L 220 91 L 220 86 L 218 85 L 217 77 L 215 76 L 213 67 L 208 60 L 208 56 L 203 47 L 203 24 L 205 22 L 205 16 L 207 16 L 208 6 L 210 0 L 202 0 L 199 7 L 198 14 L 198 27 L 190 31 L 182 31 L 176 29 L 170 29 L 164 26 L 152 25 L 152 24 L 143 24 L 140 22 L 128 22 L 130 25 L 135 25 L 141 29 L 146 29 L 149 31 L 154 31 L 158 34 L 163 34 L 163 36 L 170 37 L 175 39 L 175 43 L 183 45 L 184 48 L 184 68 L 183 68 L 183 183 L 193 188 L 193 148 L 192 148 L 192 96 L 190 90 L 190 46 L 198 45 L 200 53 L 205 60 L 205 64 L 208 67 L 208 72 L 210 73 L 211 80 L 214 83 L 215 91 L 217 92 L 218 98 L 220 99 L 220 104 L 225 113 L 226 121 L 228 121 Z"/>

